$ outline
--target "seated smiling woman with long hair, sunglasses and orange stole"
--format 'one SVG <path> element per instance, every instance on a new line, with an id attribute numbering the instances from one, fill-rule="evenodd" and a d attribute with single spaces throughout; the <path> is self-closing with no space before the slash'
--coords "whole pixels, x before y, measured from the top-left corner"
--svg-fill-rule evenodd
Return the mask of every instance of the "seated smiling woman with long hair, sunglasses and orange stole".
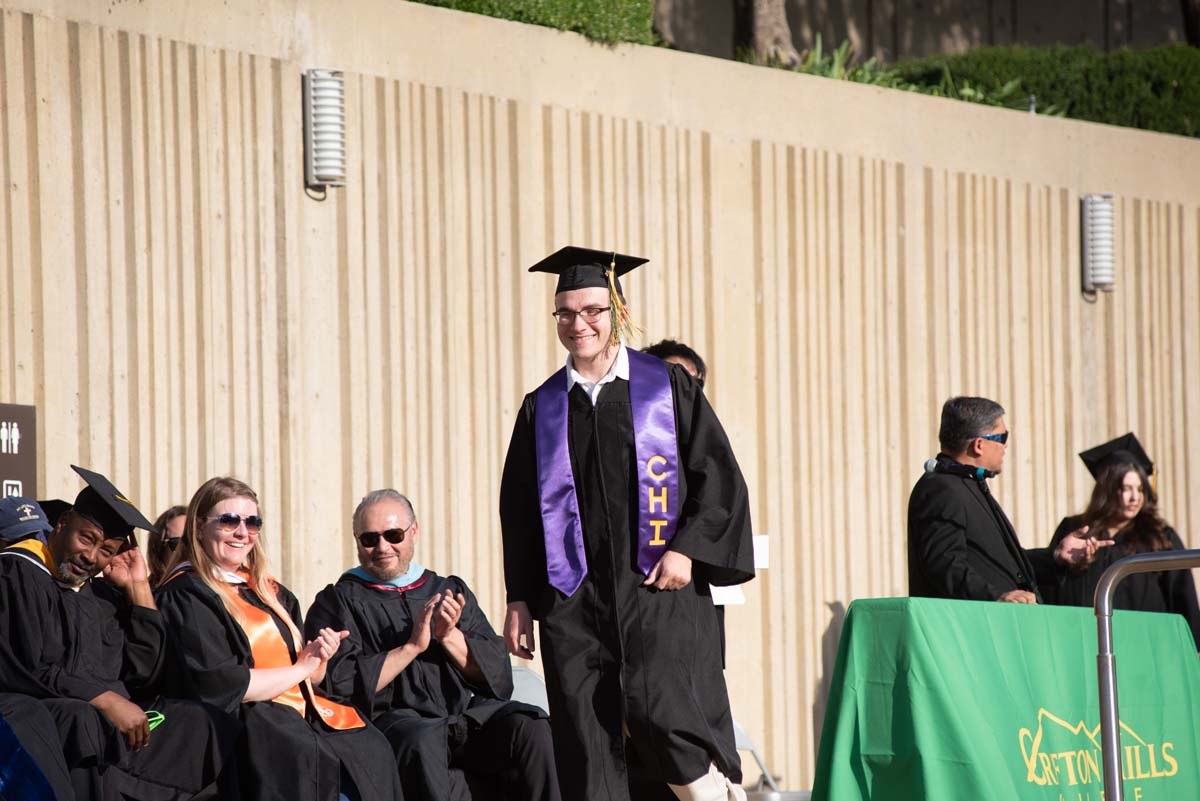
<path id="1" fill-rule="evenodd" d="M 300 606 L 269 572 L 258 496 L 210 478 L 157 592 L 181 695 L 240 712 L 244 797 L 402 799 L 391 748 L 353 706 L 316 688 L 347 632 L 305 643 Z"/>

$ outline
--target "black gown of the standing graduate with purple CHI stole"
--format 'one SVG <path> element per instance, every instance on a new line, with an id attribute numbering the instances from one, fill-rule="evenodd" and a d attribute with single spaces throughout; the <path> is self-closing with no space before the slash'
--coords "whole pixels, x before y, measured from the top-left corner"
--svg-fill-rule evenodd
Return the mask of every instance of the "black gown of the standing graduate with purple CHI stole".
<path id="1" fill-rule="evenodd" d="M 647 782 L 685 784 L 709 763 L 734 782 L 742 777 L 709 585 L 754 578 L 749 496 L 698 385 L 672 366 L 671 387 L 682 502 L 670 548 L 694 560 L 694 580 L 679 591 L 643 586 L 636 562 L 638 488 L 628 381 L 606 384 L 595 406 L 577 385 L 569 395 L 571 470 L 588 560 L 587 577 L 571 597 L 546 578 L 535 392 L 526 396 L 509 445 L 500 484 L 508 600 L 526 602 L 540 624 L 566 799 L 628 799 L 632 787 Z"/>

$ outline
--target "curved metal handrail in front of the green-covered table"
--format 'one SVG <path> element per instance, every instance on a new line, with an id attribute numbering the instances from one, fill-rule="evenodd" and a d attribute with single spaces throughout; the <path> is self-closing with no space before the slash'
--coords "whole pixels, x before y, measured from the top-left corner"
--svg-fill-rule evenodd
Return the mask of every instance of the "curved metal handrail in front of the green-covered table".
<path id="1" fill-rule="evenodd" d="M 1104 801 L 1124 801 L 1121 784 L 1121 725 L 1117 717 L 1117 666 L 1112 654 L 1112 592 L 1127 576 L 1200 567 L 1200 550 L 1159 550 L 1114 562 L 1096 585 L 1096 657 L 1100 692 L 1100 754 L 1104 758 Z"/>

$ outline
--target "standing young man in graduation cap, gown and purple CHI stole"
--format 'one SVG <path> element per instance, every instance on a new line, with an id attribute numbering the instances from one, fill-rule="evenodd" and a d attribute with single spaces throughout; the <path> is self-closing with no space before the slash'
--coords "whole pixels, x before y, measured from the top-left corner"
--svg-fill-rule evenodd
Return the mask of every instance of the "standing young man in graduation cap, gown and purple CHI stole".
<path id="1" fill-rule="evenodd" d="M 700 386 L 626 348 L 618 276 L 564 248 L 566 365 L 526 396 L 500 484 L 510 652 L 540 624 L 568 799 L 740 799 L 710 584 L 754 577 L 745 481 Z M 671 791 L 667 791 L 670 787 Z"/>

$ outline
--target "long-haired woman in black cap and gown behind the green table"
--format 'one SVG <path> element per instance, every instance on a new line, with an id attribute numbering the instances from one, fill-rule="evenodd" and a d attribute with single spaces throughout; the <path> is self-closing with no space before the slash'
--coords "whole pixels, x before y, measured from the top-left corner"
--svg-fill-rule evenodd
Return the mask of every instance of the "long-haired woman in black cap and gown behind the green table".
<path id="1" fill-rule="evenodd" d="M 1094 604 L 1096 585 L 1112 562 L 1130 554 L 1182 550 L 1180 535 L 1158 514 L 1158 496 L 1150 483 L 1154 465 L 1138 438 L 1126 434 L 1080 453 L 1096 477 L 1092 499 L 1082 514 L 1064 518 L 1050 541 L 1055 548 L 1070 532 L 1082 532 L 1115 548 L 1097 550 L 1093 559 L 1042 585 L 1048 603 L 1073 607 Z M 1200 606 L 1192 571 L 1134 573 L 1117 585 L 1117 609 L 1174 612 L 1183 615 L 1200 649 Z"/>

